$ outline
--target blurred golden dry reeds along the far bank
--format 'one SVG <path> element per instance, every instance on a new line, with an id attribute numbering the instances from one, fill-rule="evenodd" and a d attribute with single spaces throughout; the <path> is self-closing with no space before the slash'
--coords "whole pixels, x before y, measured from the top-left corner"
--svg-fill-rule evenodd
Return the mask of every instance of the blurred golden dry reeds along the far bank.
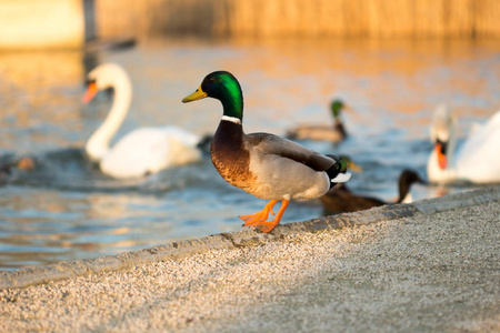
<path id="1" fill-rule="evenodd" d="M 101 37 L 499 37 L 499 0 L 96 0 Z"/>

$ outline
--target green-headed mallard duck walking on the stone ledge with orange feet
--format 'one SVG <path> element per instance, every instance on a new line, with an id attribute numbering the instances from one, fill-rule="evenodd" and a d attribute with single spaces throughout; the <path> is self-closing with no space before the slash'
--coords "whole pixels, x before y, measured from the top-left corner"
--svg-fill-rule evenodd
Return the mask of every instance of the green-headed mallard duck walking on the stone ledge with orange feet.
<path id="1" fill-rule="evenodd" d="M 182 102 L 214 98 L 223 115 L 213 135 L 210 155 L 220 175 L 231 185 L 269 200 L 260 212 L 240 216 L 243 226 L 270 232 L 281 220 L 291 199 L 313 199 L 351 176 L 346 162 L 323 155 L 269 133 L 246 134 L 242 128 L 243 94 L 238 80 L 227 71 L 208 74 Z M 281 201 L 274 219 L 267 221 Z"/>

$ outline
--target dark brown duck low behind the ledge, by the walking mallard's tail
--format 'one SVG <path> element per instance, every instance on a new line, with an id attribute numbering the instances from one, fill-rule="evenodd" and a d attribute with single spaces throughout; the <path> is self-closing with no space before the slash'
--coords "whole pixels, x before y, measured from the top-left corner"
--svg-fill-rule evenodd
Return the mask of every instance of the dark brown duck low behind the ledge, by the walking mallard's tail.
<path id="1" fill-rule="evenodd" d="M 403 170 L 399 176 L 399 198 L 392 203 L 412 202 L 410 189 L 413 183 L 424 184 L 426 182 L 414 171 Z M 321 196 L 320 200 L 323 204 L 323 212 L 327 215 L 342 212 L 357 212 L 390 203 L 372 196 L 356 195 L 346 184 L 337 185 Z"/>

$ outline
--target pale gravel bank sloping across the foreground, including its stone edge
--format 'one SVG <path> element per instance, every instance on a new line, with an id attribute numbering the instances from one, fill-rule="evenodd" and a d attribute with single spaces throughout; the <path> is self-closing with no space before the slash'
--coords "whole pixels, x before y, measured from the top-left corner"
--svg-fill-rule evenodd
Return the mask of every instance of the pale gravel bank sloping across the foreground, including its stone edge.
<path id="1" fill-rule="evenodd" d="M 69 279 L 2 273 L 34 285 L 0 291 L 0 331 L 500 332 L 500 188 L 220 240 Z"/>

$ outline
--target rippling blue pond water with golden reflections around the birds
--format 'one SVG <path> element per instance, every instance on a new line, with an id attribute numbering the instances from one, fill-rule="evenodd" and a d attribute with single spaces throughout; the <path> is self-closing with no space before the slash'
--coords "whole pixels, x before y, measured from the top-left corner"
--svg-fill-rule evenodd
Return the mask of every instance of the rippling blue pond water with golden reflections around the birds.
<path id="1" fill-rule="evenodd" d="M 352 191 L 391 200 L 404 168 L 426 175 L 428 124 L 436 104 L 472 122 L 500 109 L 499 41 L 281 40 L 208 42 L 153 40 L 92 58 L 80 52 L 0 54 L 0 161 L 34 154 L 38 168 L 0 188 L 0 270 L 148 248 L 239 230 L 240 214 L 264 201 L 226 184 L 210 161 L 146 180 L 99 173 L 80 148 L 111 105 L 106 94 L 82 105 L 84 75 L 106 61 L 133 82 L 131 110 L 117 137 L 146 125 L 174 124 L 212 133 L 218 101 L 182 104 L 209 72 L 233 72 L 243 88 L 247 132 L 283 134 L 299 123 L 331 123 L 328 105 L 342 98 L 349 139 L 321 152 L 351 155 L 366 170 Z M 9 155 L 10 154 L 10 155 Z M 463 189 L 417 185 L 413 198 Z M 316 202 L 292 203 L 283 222 L 321 214 Z"/>

